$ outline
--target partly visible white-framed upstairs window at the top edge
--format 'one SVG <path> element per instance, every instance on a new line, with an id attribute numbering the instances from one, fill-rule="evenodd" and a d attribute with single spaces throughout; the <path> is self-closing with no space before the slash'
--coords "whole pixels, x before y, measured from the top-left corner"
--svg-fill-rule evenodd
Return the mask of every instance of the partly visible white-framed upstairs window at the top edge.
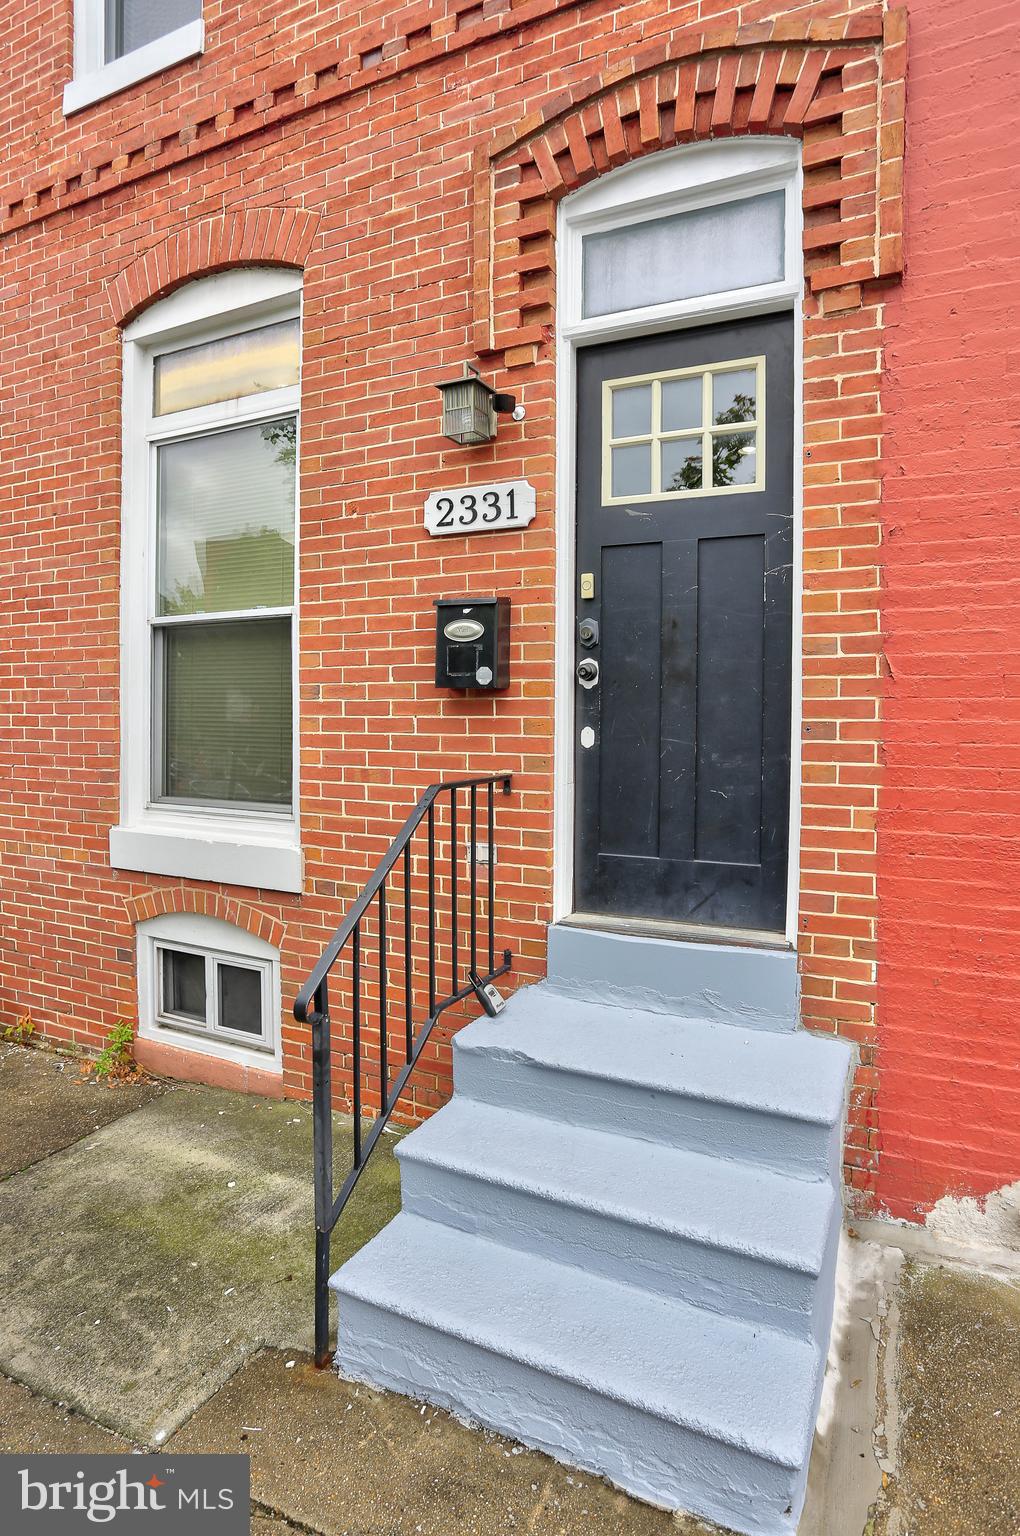
<path id="1" fill-rule="evenodd" d="M 201 54 L 201 0 L 74 0 L 65 115 Z"/>

